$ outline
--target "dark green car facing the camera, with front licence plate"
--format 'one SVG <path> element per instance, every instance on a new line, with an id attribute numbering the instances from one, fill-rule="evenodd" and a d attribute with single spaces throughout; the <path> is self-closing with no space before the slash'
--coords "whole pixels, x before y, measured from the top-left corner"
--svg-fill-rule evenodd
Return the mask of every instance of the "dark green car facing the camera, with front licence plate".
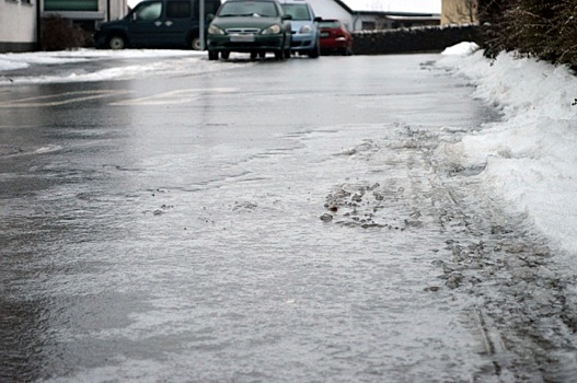
<path id="1" fill-rule="evenodd" d="M 289 58 L 290 19 L 277 0 L 228 0 L 208 26 L 208 59 L 218 60 L 219 54 L 228 59 L 231 51 L 251 54 L 252 59 L 266 53 L 277 60 Z"/>

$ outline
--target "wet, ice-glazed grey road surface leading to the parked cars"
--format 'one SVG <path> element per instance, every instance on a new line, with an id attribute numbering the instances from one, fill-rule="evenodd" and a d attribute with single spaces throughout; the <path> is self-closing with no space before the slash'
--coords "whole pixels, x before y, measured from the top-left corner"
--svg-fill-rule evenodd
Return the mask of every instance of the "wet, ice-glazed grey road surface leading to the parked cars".
<path id="1" fill-rule="evenodd" d="M 570 381 L 546 240 L 436 162 L 498 118 L 437 58 L 0 88 L 1 380 Z"/>

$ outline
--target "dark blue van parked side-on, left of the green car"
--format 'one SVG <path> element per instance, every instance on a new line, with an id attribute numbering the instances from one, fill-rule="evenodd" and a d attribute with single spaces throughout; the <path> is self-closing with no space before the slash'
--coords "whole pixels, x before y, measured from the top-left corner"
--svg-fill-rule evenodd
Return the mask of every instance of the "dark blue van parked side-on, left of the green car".
<path id="1" fill-rule="evenodd" d="M 205 20 L 219 7 L 220 0 L 205 0 Z M 199 13 L 199 0 L 146 0 L 124 19 L 102 23 L 94 34 L 94 44 L 96 48 L 109 49 L 200 49 Z"/>

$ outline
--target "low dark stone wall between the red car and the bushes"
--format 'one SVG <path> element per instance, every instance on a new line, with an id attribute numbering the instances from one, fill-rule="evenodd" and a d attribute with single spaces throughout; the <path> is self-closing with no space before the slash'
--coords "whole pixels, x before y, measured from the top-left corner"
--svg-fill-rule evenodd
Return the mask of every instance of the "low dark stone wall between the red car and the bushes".
<path id="1" fill-rule="evenodd" d="M 462 42 L 481 45 L 481 28 L 477 25 L 455 25 L 358 31 L 353 33 L 353 37 L 355 55 L 434 53 Z"/>

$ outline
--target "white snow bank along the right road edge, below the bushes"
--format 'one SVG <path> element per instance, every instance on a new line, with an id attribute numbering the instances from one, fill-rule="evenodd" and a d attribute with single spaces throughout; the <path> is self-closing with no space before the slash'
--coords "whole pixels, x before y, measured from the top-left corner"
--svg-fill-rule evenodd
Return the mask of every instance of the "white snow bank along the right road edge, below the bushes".
<path id="1" fill-rule="evenodd" d="M 503 119 L 438 155 L 480 175 L 558 245 L 577 254 L 577 77 L 566 67 L 501 54 L 483 57 L 474 44 L 443 53 L 438 66 L 476 84 L 474 96 Z"/>

